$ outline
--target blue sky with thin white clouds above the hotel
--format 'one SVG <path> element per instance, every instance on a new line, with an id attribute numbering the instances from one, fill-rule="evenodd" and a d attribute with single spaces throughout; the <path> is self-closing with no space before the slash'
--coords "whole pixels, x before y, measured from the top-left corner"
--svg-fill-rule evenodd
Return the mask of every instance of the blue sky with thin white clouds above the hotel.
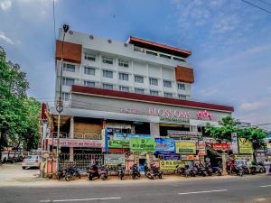
<path id="1" fill-rule="evenodd" d="M 271 0 L 248 0 L 269 10 Z M 55 36 L 70 30 L 126 42 L 132 35 L 192 51 L 192 100 L 234 106 L 271 123 L 271 14 L 241 0 L 0 0 L 0 46 L 20 64 L 28 95 L 52 104 Z M 264 125 L 271 131 L 271 125 Z"/>

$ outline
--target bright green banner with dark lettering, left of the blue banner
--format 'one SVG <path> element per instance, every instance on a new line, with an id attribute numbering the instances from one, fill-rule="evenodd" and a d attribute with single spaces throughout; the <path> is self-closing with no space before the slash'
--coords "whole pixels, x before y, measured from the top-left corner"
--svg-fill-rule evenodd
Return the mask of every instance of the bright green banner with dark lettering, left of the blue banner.
<path id="1" fill-rule="evenodd" d="M 155 152 L 155 140 L 150 138 L 131 138 L 131 152 Z"/>

